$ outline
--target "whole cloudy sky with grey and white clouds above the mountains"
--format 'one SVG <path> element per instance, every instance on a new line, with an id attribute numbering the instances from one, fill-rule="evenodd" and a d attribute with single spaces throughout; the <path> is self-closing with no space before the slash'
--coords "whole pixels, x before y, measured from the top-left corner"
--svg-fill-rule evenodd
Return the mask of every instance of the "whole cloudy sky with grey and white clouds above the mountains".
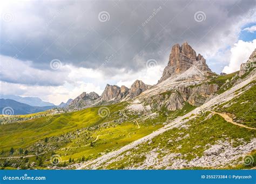
<path id="1" fill-rule="evenodd" d="M 187 41 L 213 72 L 256 47 L 255 1 L 2 1 L 1 94 L 59 104 L 106 83 L 155 84 Z"/>

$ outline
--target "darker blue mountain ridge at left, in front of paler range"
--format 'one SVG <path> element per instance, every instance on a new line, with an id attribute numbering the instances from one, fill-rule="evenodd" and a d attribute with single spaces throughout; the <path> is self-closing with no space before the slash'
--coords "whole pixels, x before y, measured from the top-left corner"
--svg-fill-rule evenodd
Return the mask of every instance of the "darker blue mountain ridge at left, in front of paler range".
<path id="1" fill-rule="evenodd" d="M 31 105 L 20 103 L 10 99 L 0 99 L 0 114 L 5 115 L 26 115 L 49 110 L 56 107 L 55 105 L 44 107 L 33 107 Z"/>

